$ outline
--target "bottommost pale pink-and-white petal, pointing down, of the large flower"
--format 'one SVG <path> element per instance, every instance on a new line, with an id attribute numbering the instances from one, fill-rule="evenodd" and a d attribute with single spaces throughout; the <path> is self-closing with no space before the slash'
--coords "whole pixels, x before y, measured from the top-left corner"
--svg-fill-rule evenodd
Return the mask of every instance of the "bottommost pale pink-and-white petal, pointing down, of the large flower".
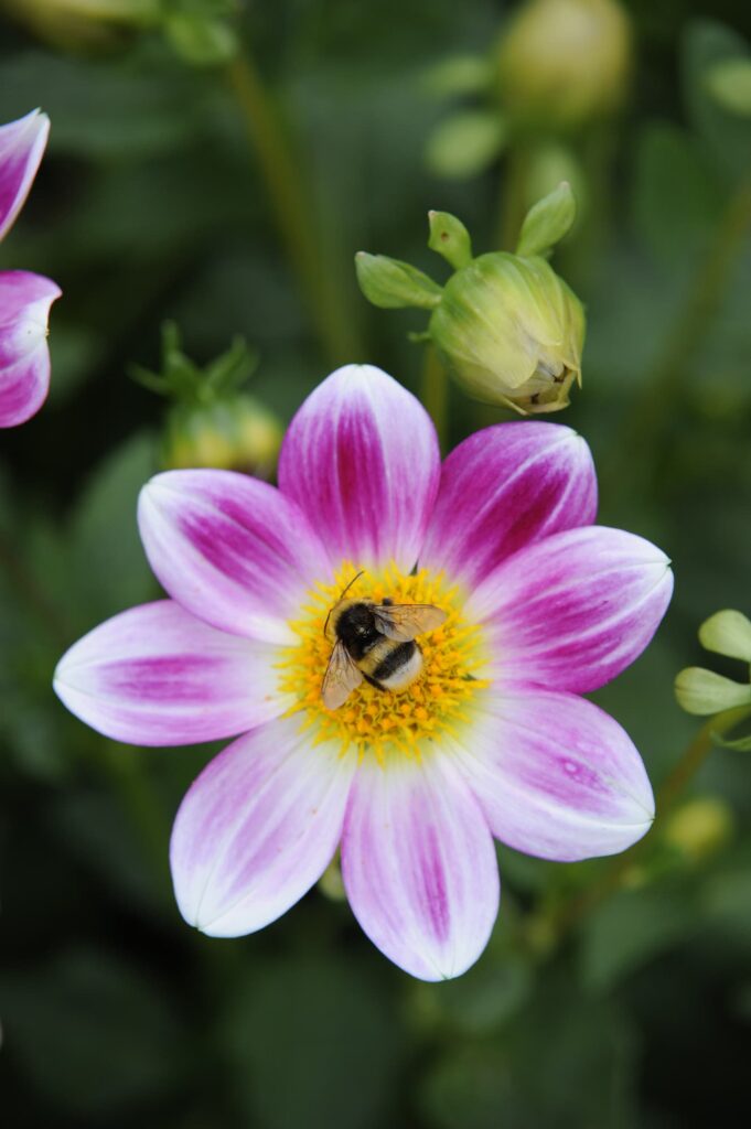
<path id="1" fill-rule="evenodd" d="M 436 755 L 360 764 L 341 844 L 344 889 L 370 940 L 420 980 L 474 964 L 498 914 L 496 851 L 456 768 Z"/>

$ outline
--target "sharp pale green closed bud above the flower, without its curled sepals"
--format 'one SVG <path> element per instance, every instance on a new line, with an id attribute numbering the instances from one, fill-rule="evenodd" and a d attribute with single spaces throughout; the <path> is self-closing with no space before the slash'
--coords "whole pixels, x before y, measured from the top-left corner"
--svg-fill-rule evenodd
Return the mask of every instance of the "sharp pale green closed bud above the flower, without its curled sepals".
<path id="1" fill-rule="evenodd" d="M 429 332 L 470 395 L 526 414 L 566 408 L 584 329 L 582 304 L 543 259 L 494 252 L 448 279 Z"/>

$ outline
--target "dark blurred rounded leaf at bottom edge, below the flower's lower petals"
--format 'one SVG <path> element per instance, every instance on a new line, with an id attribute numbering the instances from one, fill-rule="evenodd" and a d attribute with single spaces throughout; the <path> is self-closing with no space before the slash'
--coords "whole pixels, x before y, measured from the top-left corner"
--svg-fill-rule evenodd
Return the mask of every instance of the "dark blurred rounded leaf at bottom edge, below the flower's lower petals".
<path id="1" fill-rule="evenodd" d="M 341 953 L 248 963 L 224 1024 L 243 1123 L 388 1124 L 403 1036 L 382 982 Z"/>

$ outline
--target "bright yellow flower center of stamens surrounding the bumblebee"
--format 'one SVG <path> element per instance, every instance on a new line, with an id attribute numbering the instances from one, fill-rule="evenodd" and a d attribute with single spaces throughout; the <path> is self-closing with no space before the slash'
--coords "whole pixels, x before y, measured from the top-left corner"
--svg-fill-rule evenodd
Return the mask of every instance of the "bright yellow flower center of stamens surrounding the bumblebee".
<path id="1" fill-rule="evenodd" d="M 324 625 L 344 588 L 348 601 L 433 604 L 446 612 L 446 619 L 417 637 L 422 668 L 414 681 L 396 691 L 364 680 L 339 709 L 331 710 L 321 697 L 333 649 Z M 480 630 L 464 620 L 459 586 L 448 585 L 443 572 L 420 569 L 405 576 L 388 566 L 383 572 L 358 576 L 358 569 L 344 561 L 334 584 L 317 584 L 311 590 L 302 613 L 289 624 L 299 642 L 287 648 L 278 664 L 280 691 L 297 699 L 289 714 L 303 715 L 303 726 L 315 730 L 316 744 L 338 741 L 342 752 L 356 745 L 361 756 L 370 752 L 378 760 L 387 752 L 419 756 L 428 747 L 426 742 L 456 732 L 466 720 L 470 699 L 488 685 L 479 675 L 484 666 Z"/>

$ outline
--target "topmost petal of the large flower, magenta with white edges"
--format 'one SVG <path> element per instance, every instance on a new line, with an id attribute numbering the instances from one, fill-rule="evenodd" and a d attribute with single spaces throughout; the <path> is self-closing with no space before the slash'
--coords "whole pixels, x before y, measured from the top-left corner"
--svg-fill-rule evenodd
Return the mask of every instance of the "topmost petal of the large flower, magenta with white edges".
<path id="1" fill-rule="evenodd" d="M 311 518 L 332 560 L 410 571 L 440 473 L 430 418 L 372 365 L 348 365 L 311 393 L 289 426 L 279 487 Z"/>

